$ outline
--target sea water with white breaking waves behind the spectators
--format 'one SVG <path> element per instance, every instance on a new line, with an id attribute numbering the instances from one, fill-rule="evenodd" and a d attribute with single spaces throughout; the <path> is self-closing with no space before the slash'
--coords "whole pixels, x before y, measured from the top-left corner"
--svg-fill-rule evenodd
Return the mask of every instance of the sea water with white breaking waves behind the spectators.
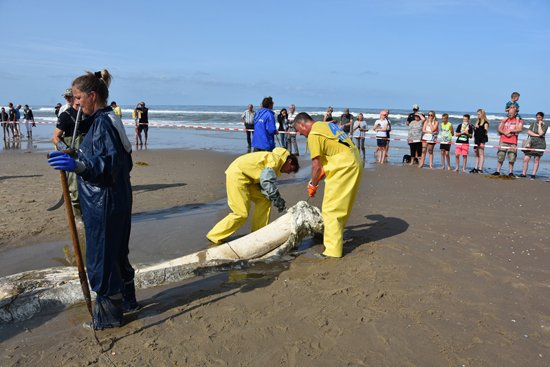
<path id="1" fill-rule="evenodd" d="M 226 131 L 226 130 L 214 130 L 214 129 L 244 129 L 241 115 L 248 109 L 248 105 L 243 106 L 193 106 L 193 105 L 147 105 L 148 120 L 150 123 L 148 132 L 148 148 L 191 148 L 191 149 L 214 149 L 220 151 L 232 151 L 234 153 L 247 153 L 247 142 L 244 131 Z M 122 109 L 122 122 L 126 124 L 127 135 L 131 142 L 135 142 L 135 127 L 133 126 L 132 112 L 134 106 L 120 105 Z M 289 109 L 288 107 L 276 106 L 274 107 L 275 117 L 281 111 L 282 108 Z M 34 113 L 34 119 L 37 122 L 55 122 L 56 115 L 54 113 L 54 107 L 51 106 L 32 106 Z M 334 111 L 332 116 L 336 120 L 340 120 L 340 116 L 343 113 L 344 108 L 333 107 Z M 254 111 L 258 110 L 258 106 L 254 107 Z M 380 118 L 380 111 L 382 109 L 372 108 L 349 108 L 350 113 L 353 115 L 353 120 L 357 120 L 358 113 L 362 113 L 369 131 L 366 133 L 366 147 L 368 149 L 375 148 L 376 140 L 375 132 L 373 131 L 373 124 L 375 120 Z M 323 120 L 327 109 L 325 107 L 300 107 L 296 108 L 298 112 L 307 112 L 314 120 Z M 391 109 L 389 118 L 391 120 L 391 138 L 392 139 L 404 139 L 408 137 L 408 126 L 406 120 L 408 114 L 412 110 L 408 109 Z M 428 115 L 428 111 L 422 112 Z M 456 126 L 462 123 L 462 118 L 465 113 L 471 115 L 470 122 L 475 124 L 477 121 L 476 111 L 435 111 L 436 116 L 441 123 L 441 115 L 448 113 L 449 122 L 452 124 L 453 129 L 456 130 Z M 489 121 L 489 142 L 487 145 L 498 146 L 499 137 L 496 132 L 496 127 L 500 120 L 502 120 L 506 113 L 487 112 L 487 120 Z M 536 115 L 529 113 L 521 113 L 522 120 L 524 121 L 524 133 L 520 134 L 519 141 L 527 137 L 527 129 L 530 124 L 536 120 Z M 168 126 L 166 126 L 168 125 Z M 277 124 L 278 125 L 278 124 Z M 184 127 L 192 126 L 192 127 Z M 212 128 L 212 129 L 207 129 Z M 24 132 L 24 126 L 21 126 L 21 130 Z M 51 136 L 54 131 L 54 124 L 37 124 L 37 127 L 33 129 L 33 135 L 35 137 L 34 142 L 29 144 L 23 140 L 20 144 L 14 144 L 13 142 L 8 145 L 4 144 L 3 150 L 13 149 L 19 146 L 21 149 L 28 149 L 36 146 L 36 148 L 52 148 Z M 300 147 L 300 153 L 305 150 L 305 137 L 297 137 Z M 456 138 L 453 138 L 453 142 Z M 276 146 L 279 146 L 280 139 L 276 140 Z M 473 144 L 473 138 L 470 140 Z M 144 148 L 142 146 L 135 146 L 136 149 Z M 392 154 L 394 151 L 394 154 Z M 395 152 L 397 151 L 397 152 Z M 404 154 L 408 154 L 409 148 L 407 142 L 392 141 L 390 143 L 390 155 L 393 155 L 391 160 L 394 162 L 401 162 Z M 441 153 L 439 153 L 439 146 L 434 149 L 434 162 L 439 166 L 441 164 Z M 454 155 L 454 148 L 451 149 L 451 155 Z M 485 148 L 486 159 L 494 159 L 496 157 L 496 148 Z M 395 161 L 397 159 L 397 161 Z M 523 153 L 518 152 L 518 159 L 515 164 L 516 173 L 521 170 L 521 164 L 523 159 Z M 454 157 L 451 157 L 451 164 L 454 166 Z M 550 153 L 544 154 L 541 158 L 541 166 L 539 168 L 539 175 L 547 176 L 550 172 Z M 529 170 L 531 172 L 533 159 L 529 162 Z M 470 159 L 468 159 L 468 166 L 474 165 L 474 149 L 470 148 Z M 487 165 L 486 165 L 487 166 Z M 495 164 L 492 164 L 491 168 Z M 503 173 L 507 173 L 507 162 L 505 162 L 505 170 Z"/>

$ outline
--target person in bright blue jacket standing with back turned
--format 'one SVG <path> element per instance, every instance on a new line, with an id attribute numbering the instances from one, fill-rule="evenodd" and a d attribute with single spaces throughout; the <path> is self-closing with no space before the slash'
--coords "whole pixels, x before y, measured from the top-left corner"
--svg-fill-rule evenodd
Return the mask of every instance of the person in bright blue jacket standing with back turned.
<path id="1" fill-rule="evenodd" d="M 273 112 L 273 98 L 265 97 L 262 101 L 262 109 L 254 118 L 254 136 L 252 137 L 254 152 L 273 151 L 275 134 L 278 134 L 278 131 Z"/>

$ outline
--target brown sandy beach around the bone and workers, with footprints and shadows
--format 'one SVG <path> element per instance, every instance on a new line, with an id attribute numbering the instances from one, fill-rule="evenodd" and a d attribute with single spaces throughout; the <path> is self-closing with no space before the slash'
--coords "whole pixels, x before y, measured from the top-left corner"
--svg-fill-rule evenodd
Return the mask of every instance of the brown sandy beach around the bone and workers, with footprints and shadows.
<path id="1" fill-rule="evenodd" d="M 61 197 L 58 172 L 44 152 L 25 152 L 1 156 L 0 256 L 70 241 L 65 211 L 45 211 Z M 221 201 L 175 238 L 206 248 L 206 232 L 228 213 L 223 172 L 236 156 L 134 151 L 133 162 L 148 165 L 131 173 L 133 214 Z M 549 364 L 549 183 L 372 162 L 368 150 L 343 258 L 314 258 L 322 240 L 311 238 L 291 261 L 138 291 L 144 309 L 98 331 L 104 354 L 81 326 L 84 304 L 1 325 L 0 366 Z M 311 161 L 300 164 L 278 180 L 287 205 L 307 199 Z M 318 207 L 319 192 L 309 201 Z M 134 225 L 155 232 L 164 220 Z M 236 234 L 248 232 L 250 221 Z M 139 242 L 131 252 L 155 247 Z"/>

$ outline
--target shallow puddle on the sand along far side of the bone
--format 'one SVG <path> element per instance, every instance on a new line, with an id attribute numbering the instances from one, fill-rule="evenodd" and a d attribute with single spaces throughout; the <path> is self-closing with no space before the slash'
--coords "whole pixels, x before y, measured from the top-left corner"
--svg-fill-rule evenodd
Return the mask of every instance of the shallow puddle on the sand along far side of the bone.
<path id="1" fill-rule="evenodd" d="M 208 246 L 206 233 L 225 212 L 225 199 L 208 205 L 184 205 L 132 216 L 130 263 L 157 263 L 192 254 Z M 83 232 L 83 231 L 80 231 Z M 85 257 L 85 239 L 79 232 Z M 5 252 L 0 256 L 0 277 L 47 267 L 74 266 L 74 251 L 69 241 L 39 243 Z"/>

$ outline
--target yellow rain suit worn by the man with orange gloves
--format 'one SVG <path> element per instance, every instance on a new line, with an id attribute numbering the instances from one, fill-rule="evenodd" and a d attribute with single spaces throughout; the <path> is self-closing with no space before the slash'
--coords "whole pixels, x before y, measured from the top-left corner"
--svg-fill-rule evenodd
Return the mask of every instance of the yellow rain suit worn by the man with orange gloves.
<path id="1" fill-rule="evenodd" d="M 316 124 L 319 124 L 319 122 Z M 335 126 L 330 127 L 333 133 L 338 135 L 336 130 L 340 131 L 340 129 L 335 129 Z M 338 136 L 331 134 L 327 129 L 316 130 L 312 130 L 309 136 L 321 135 L 331 140 L 338 140 Z M 325 223 L 323 240 L 325 252 L 323 254 L 333 257 L 342 257 L 344 227 L 349 214 L 351 214 L 351 208 L 353 208 L 363 175 L 363 163 L 358 148 L 343 132 L 340 133 L 340 140 L 349 144 L 349 148 L 336 155 L 320 156 L 320 162 L 327 175 L 325 179 L 325 196 L 321 208 L 322 220 Z"/>

